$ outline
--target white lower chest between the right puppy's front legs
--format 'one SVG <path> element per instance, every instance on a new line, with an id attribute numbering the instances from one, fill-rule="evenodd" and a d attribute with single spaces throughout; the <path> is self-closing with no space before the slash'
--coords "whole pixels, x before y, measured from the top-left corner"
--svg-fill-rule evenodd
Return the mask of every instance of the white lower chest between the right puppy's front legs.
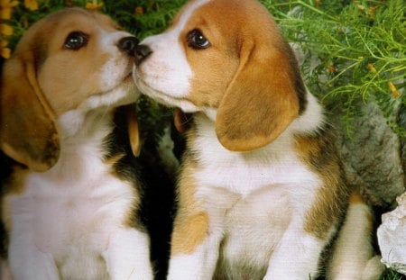
<path id="1" fill-rule="evenodd" d="M 219 266 L 228 271 L 261 271 L 289 223 L 291 203 L 280 189 L 262 190 L 226 212 Z"/>

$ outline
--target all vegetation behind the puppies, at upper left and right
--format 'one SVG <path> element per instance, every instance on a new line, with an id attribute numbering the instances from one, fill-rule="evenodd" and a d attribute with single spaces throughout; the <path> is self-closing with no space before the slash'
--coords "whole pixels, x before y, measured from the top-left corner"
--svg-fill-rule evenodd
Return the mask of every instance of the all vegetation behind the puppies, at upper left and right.
<path id="1" fill-rule="evenodd" d="M 351 137 L 361 107 L 379 104 L 401 139 L 406 128 L 406 5 L 403 0 L 260 0 L 281 31 L 302 52 L 307 85 Z M 0 0 L 0 66 L 23 32 L 46 14 L 80 6 L 111 15 L 139 39 L 162 32 L 186 0 Z M 171 112 L 143 98 L 138 104 L 145 137 L 161 136 Z M 164 120 L 164 122 L 162 122 Z M 153 130 L 151 129 L 153 127 Z M 387 270 L 382 279 L 402 279 Z"/>

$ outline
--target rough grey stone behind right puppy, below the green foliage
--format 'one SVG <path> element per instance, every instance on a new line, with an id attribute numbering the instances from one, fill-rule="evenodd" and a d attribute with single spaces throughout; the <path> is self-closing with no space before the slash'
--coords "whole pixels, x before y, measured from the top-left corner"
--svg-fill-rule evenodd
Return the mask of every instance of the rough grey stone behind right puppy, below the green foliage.
<path id="1" fill-rule="evenodd" d="M 377 104 L 363 104 L 361 110 L 352 123 L 351 137 L 336 121 L 346 181 L 360 189 L 371 205 L 392 209 L 396 197 L 405 191 L 401 140 Z"/>

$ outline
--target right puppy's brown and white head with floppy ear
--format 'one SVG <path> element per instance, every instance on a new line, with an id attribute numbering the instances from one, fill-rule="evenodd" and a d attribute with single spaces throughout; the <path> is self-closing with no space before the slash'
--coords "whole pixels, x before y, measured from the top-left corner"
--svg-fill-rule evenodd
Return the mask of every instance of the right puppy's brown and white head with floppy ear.
<path id="1" fill-rule="evenodd" d="M 254 0 L 192 1 L 141 46 L 150 49 L 134 70 L 141 91 L 189 113 L 215 109 L 226 149 L 263 147 L 304 110 L 291 48 Z"/>

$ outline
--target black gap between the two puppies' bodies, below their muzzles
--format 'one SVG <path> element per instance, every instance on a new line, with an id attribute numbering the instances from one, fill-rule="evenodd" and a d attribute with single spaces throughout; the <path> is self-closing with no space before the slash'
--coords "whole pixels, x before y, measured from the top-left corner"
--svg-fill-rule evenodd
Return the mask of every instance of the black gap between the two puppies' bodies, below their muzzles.
<path id="1" fill-rule="evenodd" d="M 130 106 L 131 110 L 136 110 L 134 105 Z M 119 107 L 115 111 L 115 129 L 105 140 L 106 159 L 123 155 L 115 162 L 114 172 L 119 178 L 133 182 L 141 196 L 141 205 L 134 209 L 132 215 L 132 226 L 148 232 L 155 279 L 165 279 L 170 254 L 175 174 L 166 173 L 156 149 L 156 138 L 143 139 L 145 145 L 141 154 L 138 158 L 134 157 L 127 131 L 126 110 L 128 108 Z M 140 127 L 143 130 L 143 123 Z"/>

